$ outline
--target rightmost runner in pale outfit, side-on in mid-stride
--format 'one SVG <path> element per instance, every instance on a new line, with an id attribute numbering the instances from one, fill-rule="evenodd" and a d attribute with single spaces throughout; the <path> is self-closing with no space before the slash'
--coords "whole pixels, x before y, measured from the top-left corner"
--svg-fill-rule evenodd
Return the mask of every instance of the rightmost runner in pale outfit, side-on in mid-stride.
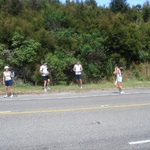
<path id="1" fill-rule="evenodd" d="M 118 65 L 115 65 L 114 74 L 116 75 L 115 86 L 119 89 L 119 92 L 124 93 L 123 88 L 121 86 L 122 83 L 122 74 Z"/>

